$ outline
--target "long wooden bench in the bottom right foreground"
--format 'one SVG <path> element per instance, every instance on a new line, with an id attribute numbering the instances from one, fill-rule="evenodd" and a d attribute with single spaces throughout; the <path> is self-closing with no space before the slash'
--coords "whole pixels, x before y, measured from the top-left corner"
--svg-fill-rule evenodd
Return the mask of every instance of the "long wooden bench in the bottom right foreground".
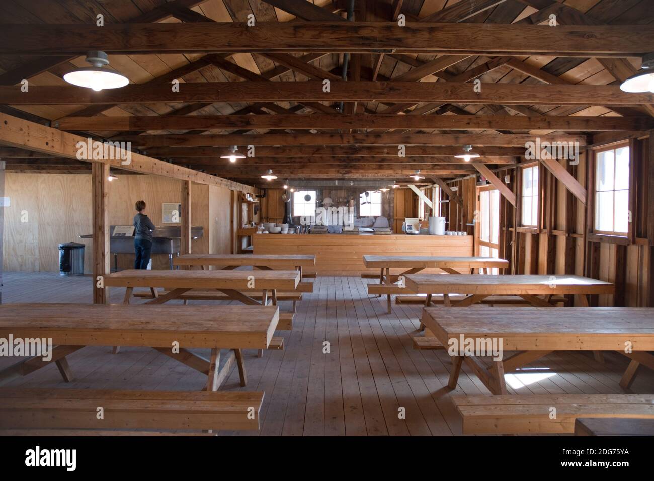
<path id="1" fill-rule="evenodd" d="M 577 418 L 654 419 L 654 395 L 453 396 L 463 433 L 574 433 Z"/>

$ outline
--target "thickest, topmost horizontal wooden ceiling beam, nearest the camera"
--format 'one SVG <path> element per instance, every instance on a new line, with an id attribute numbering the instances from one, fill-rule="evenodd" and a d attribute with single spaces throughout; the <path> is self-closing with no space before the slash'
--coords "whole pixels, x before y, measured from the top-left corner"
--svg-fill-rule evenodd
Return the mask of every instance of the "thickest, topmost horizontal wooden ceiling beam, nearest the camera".
<path id="1" fill-rule="evenodd" d="M 349 52 L 628 57 L 654 51 L 654 26 L 390 22 L 257 22 L 18 25 L 0 30 L 0 54 Z"/>

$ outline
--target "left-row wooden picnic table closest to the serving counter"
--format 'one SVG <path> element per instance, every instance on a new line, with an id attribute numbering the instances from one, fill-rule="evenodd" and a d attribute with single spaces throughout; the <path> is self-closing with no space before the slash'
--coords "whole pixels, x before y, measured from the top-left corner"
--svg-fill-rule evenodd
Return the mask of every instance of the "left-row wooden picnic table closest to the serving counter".
<path id="1" fill-rule="evenodd" d="M 183 254 L 173 259 L 176 266 L 222 266 L 233 270 L 239 266 L 252 266 L 259 270 L 298 270 L 302 280 L 303 267 L 315 266 L 315 255 L 300 254 Z"/>

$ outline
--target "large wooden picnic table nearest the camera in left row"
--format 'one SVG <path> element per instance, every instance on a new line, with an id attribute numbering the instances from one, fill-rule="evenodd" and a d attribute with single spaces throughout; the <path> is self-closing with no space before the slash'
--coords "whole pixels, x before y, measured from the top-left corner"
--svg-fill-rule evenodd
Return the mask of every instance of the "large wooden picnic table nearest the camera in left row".
<path id="1" fill-rule="evenodd" d="M 205 390 L 216 391 L 236 362 L 247 383 L 241 349 L 266 349 L 273 340 L 279 308 L 273 306 L 124 306 L 120 304 L 5 304 L 0 337 L 52 340 L 52 359 L 31 357 L 0 372 L 0 382 L 56 363 L 66 382 L 65 359 L 85 346 L 153 347 L 207 374 Z M 174 344 L 179 343 L 179 344 Z M 179 350 L 173 351 L 173 347 Z M 188 349 L 211 349 L 210 359 Z M 220 368 L 220 349 L 231 349 Z"/>

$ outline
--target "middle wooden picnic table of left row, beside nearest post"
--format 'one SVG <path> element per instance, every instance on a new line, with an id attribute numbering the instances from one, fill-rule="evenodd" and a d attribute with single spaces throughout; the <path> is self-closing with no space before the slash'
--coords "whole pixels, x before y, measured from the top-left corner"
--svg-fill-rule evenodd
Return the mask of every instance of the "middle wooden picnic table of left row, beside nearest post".
<path id="1" fill-rule="evenodd" d="M 135 287 L 149 287 L 154 298 L 145 304 L 164 304 L 177 299 L 192 289 L 216 289 L 228 300 L 237 300 L 250 306 L 267 305 L 268 292 L 273 305 L 277 304 L 277 291 L 295 291 L 300 283 L 300 272 L 290 270 L 123 270 L 104 276 L 105 287 L 126 287 L 123 304 Z M 169 289 L 161 296 L 157 287 Z M 246 293 L 262 292 L 258 302 Z"/>

